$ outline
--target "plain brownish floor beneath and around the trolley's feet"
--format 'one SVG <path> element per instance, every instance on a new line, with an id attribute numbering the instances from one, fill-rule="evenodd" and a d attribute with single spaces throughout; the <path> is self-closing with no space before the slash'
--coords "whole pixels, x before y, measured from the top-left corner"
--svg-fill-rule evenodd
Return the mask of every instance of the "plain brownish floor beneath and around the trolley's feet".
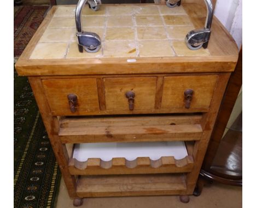
<path id="1" fill-rule="evenodd" d="M 232 199 L 232 200 L 230 200 Z M 68 197 L 67 189 L 61 181 L 56 208 L 71 208 L 73 201 Z M 80 208 L 241 208 L 242 187 L 227 186 L 220 183 L 206 185 L 200 197 L 190 197 L 189 204 L 183 204 L 177 196 L 155 197 L 102 197 L 87 198 Z"/>

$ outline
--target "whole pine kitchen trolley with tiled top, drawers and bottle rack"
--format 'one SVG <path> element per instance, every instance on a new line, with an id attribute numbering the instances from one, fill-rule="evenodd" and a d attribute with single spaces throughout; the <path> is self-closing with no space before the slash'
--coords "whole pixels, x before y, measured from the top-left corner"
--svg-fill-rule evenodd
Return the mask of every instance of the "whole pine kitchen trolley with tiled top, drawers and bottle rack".
<path id="1" fill-rule="evenodd" d="M 216 17 L 208 47 L 187 48 L 206 17 L 203 1 L 191 2 L 85 5 L 83 29 L 102 41 L 96 53 L 78 51 L 75 5 L 54 6 L 16 63 L 75 205 L 193 194 L 238 50 Z"/>

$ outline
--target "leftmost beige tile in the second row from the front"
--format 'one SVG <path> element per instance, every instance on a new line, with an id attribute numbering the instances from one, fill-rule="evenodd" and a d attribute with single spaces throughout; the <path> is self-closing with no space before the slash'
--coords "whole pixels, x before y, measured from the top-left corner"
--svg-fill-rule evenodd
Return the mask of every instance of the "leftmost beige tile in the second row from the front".
<path id="1" fill-rule="evenodd" d="M 67 42 L 74 34 L 73 28 L 46 29 L 39 42 Z"/>

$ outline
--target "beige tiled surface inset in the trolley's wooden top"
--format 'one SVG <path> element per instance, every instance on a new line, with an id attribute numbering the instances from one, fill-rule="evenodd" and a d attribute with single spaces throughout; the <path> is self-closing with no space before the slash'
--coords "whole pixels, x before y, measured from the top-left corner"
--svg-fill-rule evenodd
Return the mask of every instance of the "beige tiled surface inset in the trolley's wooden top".
<path id="1" fill-rule="evenodd" d="M 75 36 L 74 6 L 59 6 L 34 48 L 30 59 L 104 57 L 209 56 L 208 49 L 191 51 L 184 42 L 194 29 L 182 6 L 101 5 L 83 8 L 83 29 L 101 37 L 96 53 L 79 53 Z"/>

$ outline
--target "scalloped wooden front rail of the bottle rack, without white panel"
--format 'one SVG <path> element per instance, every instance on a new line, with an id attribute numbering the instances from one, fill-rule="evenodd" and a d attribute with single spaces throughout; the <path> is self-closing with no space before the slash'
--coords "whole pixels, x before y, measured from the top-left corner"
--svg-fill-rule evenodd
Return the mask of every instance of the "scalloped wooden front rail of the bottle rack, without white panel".
<path id="1" fill-rule="evenodd" d="M 71 175 L 111 175 L 111 174 L 150 174 L 150 173 L 188 173 L 194 167 L 192 156 L 181 160 L 174 157 L 161 157 L 152 161 L 148 157 L 138 157 L 127 161 L 125 158 L 113 158 L 104 162 L 100 158 L 89 158 L 86 162 L 69 160 Z"/>

